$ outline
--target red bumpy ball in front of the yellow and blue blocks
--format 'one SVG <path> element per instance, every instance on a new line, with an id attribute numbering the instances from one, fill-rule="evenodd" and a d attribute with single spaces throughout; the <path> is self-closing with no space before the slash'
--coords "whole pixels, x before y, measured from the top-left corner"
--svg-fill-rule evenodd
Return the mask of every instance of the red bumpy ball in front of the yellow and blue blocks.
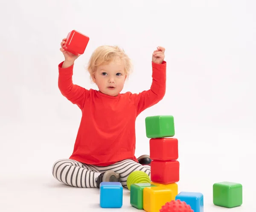
<path id="1" fill-rule="evenodd" d="M 160 212 L 194 212 L 194 210 L 184 201 L 172 200 L 163 205 Z"/>

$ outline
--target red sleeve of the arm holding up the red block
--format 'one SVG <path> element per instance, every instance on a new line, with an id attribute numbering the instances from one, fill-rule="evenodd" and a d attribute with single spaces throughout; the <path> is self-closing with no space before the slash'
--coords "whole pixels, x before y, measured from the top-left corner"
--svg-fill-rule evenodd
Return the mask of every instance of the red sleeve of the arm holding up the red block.
<path id="1" fill-rule="evenodd" d="M 62 68 L 61 62 L 58 65 L 58 88 L 61 94 L 70 102 L 76 104 L 80 109 L 84 107 L 84 101 L 89 97 L 89 91 L 79 85 L 73 84 L 73 67 L 74 64 L 67 68 Z"/>

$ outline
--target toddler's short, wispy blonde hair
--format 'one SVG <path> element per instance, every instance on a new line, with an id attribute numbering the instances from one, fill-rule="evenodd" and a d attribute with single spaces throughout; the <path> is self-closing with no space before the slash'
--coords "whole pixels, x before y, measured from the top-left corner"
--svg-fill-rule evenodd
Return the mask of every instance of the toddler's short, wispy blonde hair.
<path id="1" fill-rule="evenodd" d="M 124 71 L 128 78 L 132 71 L 131 59 L 119 46 L 108 45 L 97 47 L 91 55 L 87 65 L 87 70 L 90 73 L 91 78 L 94 76 L 98 66 L 108 64 L 116 59 L 120 59 L 125 64 Z"/>

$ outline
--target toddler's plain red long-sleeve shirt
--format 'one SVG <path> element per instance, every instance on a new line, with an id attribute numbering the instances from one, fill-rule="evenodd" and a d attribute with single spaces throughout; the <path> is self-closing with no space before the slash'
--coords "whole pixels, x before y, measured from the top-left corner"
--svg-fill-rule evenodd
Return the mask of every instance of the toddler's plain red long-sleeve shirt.
<path id="1" fill-rule="evenodd" d="M 58 87 L 63 96 L 78 105 L 82 117 L 70 159 L 96 166 L 108 166 L 132 159 L 135 153 L 135 120 L 146 108 L 155 105 L 166 91 L 166 61 L 152 62 L 152 84 L 141 93 L 108 96 L 73 84 L 73 65 L 58 65 Z"/>

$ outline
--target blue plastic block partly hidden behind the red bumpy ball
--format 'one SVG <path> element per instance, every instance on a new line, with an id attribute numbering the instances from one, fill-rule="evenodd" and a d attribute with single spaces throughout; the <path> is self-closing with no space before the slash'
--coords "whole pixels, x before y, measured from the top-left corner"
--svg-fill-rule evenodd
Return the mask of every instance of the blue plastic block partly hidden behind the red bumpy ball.
<path id="1" fill-rule="evenodd" d="M 204 212 L 204 196 L 198 192 L 180 192 L 175 200 L 184 201 L 194 212 Z"/>

